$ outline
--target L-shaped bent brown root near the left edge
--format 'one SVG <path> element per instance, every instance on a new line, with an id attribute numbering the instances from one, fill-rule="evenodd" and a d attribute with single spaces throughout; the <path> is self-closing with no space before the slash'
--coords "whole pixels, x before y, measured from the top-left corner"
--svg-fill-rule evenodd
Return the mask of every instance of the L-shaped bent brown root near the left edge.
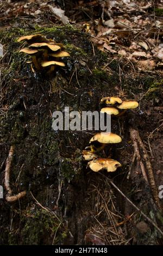
<path id="1" fill-rule="evenodd" d="M 13 159 L 14 149 L 15 149 L 15 146 L 12 145 L 10 147 L 10 151 L 9 151 L 8 158 L 6 160 L 5 171 L 4 171 L 4 186 L 5 186 L 5 189 L 7 190 L 7 195 L 6 195 L 5 199 L 8 202 L 15 202 L 16 200 L 21 199 L 22 197 L 24 197 L 26 195 L 26 191 L 22 191 L 16 195 L 12 196 L 12 190 L 10 188 L 10 167 L 11 167 L 11 162 Z"/>

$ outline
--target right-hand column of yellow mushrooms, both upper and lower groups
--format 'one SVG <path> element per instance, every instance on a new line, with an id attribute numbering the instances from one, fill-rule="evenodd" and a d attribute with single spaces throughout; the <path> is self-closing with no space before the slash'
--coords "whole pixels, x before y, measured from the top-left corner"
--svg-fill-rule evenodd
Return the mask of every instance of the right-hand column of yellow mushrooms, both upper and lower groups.
<path id="1" fill-rule="evenodd" d="M 119 97 L 103 97 L 101 103 L 106 105 L 106 107 L 101 109 L 102 113 L 114 114 L 117 116 L 123 114 L 127 109 L 139 106 L 139 103 L 135 100 L 122 101 Z M 118 167 L 121 167 L 120 162 L 110 158 L 99 157 L 95 153 L 102 150 L 107 144 L 120 142 L 122 142 L 122 138 L 115 133 L 96 133 L 96 135 L 90 139 L 90 146 L 86 147 L 82 152 L 84 160 L 89 161 L 87 166 L 93 170 L 93 172 L 98 172 L 102 169 L 106 169 L 107 172 L 115 172 Z"/>

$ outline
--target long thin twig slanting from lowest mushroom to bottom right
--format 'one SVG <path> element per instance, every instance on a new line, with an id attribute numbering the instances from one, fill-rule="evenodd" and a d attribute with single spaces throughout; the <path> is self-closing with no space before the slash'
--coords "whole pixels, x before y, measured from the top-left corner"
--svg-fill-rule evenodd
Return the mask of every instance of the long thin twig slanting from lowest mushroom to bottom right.
<path id="1" fill-rule="evenodd" d="M 102 174 L 102 173 L 98 173 L 98 174 L 104 176 L 104 178 L 105 178 L 106 180 L 108 180 L 108 181 L 110 182 L 110 184 L 111 184 L 112 186 L 114 186 L 114 187 L 116 188 L 116 190 L 117 190 L 117 191 L 118 191 L 118 192 L 119 192 L 136 210 L 137 210 L 137 211 L 139 211 L 139 212 L 141 213 L 141 215 L 142 215 L 143 217 L 145 217 L 146 220 L 147 220 L 149 223 L 151 223 L 151 224 L 159 231 L 159 233 L 163 236 L 163 232 L 162 232 L 162 230 L 158 227 L 158 225 L 156 225 L 155 222 L 153 222 L 153 221 L 151 220 L 151 218 L 149 218 L 147 215 L 145 215 L 142 210 L 140 210 L 133 202 L 131 202 L 131 200 L 130 200 L 125 194 L 123 194 L 123 192 L 120 190 L 120 188 L 118 188 L 118 187 L 114 184 L 114 182 L 112 182 L 112 180 L 110 180 L 108 177 L 106 177 L 106 176 L 105 176 L 104 174 Z"/>

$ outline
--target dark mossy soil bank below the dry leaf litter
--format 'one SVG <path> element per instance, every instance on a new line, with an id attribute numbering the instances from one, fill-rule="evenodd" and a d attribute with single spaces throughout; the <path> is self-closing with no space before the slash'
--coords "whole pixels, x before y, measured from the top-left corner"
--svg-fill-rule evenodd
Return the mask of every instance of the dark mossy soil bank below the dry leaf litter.
<path id="1" fill-rule="evenodd" d="M 90 36 L 73 26 L 19 28 L 5 24 L 0 31 L 1 61 L 0 184 L 5 161 L 15 145 L 10 186 L 27 195 L 15 203 L 0 199 L 1 245 L 158 245 L 161 234 L 109 183 L 126 194 L 161 229 L 162 211 L 153 200 L 134 155 L 129 127 L 139 130 L 153 167 L 156 186 L 163 185 L 162 77 L 157 72 L 133 71 L 130 63 L 92 46 Z M 4 24 L 3 24 L 4 25 Z M 15 26 L 15 27 L 14 27 Z M 41 33 L 62 42 L 70 58 L 54 76 L 34 74 L 28 57 L 18 53 L 17 38 Z M 121 70 L 121 72 L 120 72 Z M 86 168 L 82 150 L 92 132 L 52 129 L 52 113 L 99 111 L 104 96 L 136 99 L 140 107 L 111 119 L 112 132 L 122 143 L 106 147 L 122 167 L 115 173 Z M 106 178 L 107 177 L 107 178 Z M 162 199 L 160 199 L 162 204 Z M 163 206 L 163 205 L 162 205 Z"/>

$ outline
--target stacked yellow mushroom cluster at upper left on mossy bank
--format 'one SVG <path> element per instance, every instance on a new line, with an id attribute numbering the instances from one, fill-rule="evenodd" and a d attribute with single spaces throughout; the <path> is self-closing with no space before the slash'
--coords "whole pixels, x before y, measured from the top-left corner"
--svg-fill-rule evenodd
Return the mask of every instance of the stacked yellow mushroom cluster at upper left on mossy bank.
<path id="1" fill-rule="evenodd" d="M 47 39 L 41 34 L 21 36 L 17 41 L 26 41 L 28 48 L 22 48 L 19 52 L 27 53 L 31 56 L 30 63 L 33 72 L 45 70 L 48 74 L 54 71 L 56 66 L 65 66 L 60 61 L 61 57 L 68 57 L 70 54 L 64 51 L 64 46 L 52 39 Z"/>

